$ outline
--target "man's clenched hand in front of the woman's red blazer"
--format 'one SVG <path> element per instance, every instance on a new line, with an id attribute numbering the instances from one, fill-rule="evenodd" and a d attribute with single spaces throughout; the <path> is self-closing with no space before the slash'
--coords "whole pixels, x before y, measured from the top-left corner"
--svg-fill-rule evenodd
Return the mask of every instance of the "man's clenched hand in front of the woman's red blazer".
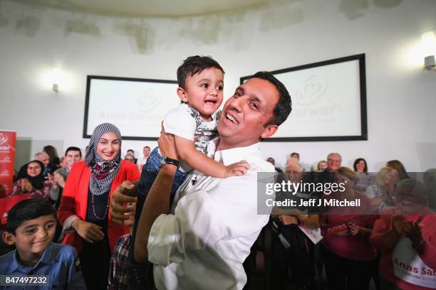
<path id="1" fill-rule="evenodd" d="M 122 225 L 124 220 L 128 220 L 129 215 L 125 213 L 131 213 L 135 209 L 125 207 L 127 203 L 136 203 L 137 198 L 137 181 L 123 181 L 112 193 L 112 199 L 110 200 L 109 214 L 110 218 L 118 225 Z"/>

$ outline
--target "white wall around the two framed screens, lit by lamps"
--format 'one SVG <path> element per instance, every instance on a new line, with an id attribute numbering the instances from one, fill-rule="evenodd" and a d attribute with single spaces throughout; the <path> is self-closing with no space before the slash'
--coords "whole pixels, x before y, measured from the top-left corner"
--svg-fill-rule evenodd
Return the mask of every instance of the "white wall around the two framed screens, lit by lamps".
<path id="1" fill-rule="evenodd" d="M 224 95 L 230 96 L 239 77 L 258 70 L 365 53 L 368 141 L 264 143 L 265 158 L 283 165 L 287 154 L 298 151 L 311 164 L 338 151 L 344 164 L 363 156 L 373 171 L 389 159 L 400 159 L 409 171 L 435 168 L 436 71 L 422 70 L 417 45 L 423 32 L 436 31 L 436 1 L 272 3 L 216 15 L 140 19 L 0 1 L 0 129 L 31 139 L 29 154 L 45 141 L 60 151 L 84 148 L 86 75 L 175 80 L 184 58 L 212 55 L 226 70 Z M 41 82 L 55 66 L 68 76 L 57 94 Z M 123 151 L 141 151 L 144 144 L 156 145 L 124 141 Z"/>

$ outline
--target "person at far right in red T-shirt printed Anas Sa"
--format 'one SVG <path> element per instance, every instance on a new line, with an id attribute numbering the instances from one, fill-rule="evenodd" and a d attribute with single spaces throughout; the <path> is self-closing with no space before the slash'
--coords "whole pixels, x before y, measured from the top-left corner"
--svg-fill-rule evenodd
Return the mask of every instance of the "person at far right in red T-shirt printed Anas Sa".
<path id="1" fill-rule="evenodd" d="M 436 215 L 420 181 L 398 182 L 395 207 L 375 222 L 370 242 L 381 252 L 382 289 L 436 288 Z"/>

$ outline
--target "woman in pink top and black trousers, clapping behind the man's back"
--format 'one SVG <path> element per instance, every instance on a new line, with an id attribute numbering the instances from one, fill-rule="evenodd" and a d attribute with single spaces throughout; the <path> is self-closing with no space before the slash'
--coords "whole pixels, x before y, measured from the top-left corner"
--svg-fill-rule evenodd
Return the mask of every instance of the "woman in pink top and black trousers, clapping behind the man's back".
<path id="1" fill-rule="evenodd" d="M 373 269 L 377 267 L 377 252 L 368 241 L 375 219 L 363 213 L 371 213 L 372 205 L 365 195 L 353 189 L 358 176 L 351 168 L 341 167 L 335 171 L 335 182 L 343 183 L 345 190 L 323 198 L 359 199 L 360 207 L 332 206 L 320 216 L 328 289 L 368 289 Z"/>

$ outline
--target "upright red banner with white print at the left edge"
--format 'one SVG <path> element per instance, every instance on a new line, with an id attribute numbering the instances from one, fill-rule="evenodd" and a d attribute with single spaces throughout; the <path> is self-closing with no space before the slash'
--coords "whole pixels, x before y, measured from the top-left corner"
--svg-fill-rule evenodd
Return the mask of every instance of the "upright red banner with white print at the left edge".
<path id="1" fill-rule="evenodd" d="M 0 198 L 12 190 L 15 148 L 16 131 L 0 130 Z"/>

